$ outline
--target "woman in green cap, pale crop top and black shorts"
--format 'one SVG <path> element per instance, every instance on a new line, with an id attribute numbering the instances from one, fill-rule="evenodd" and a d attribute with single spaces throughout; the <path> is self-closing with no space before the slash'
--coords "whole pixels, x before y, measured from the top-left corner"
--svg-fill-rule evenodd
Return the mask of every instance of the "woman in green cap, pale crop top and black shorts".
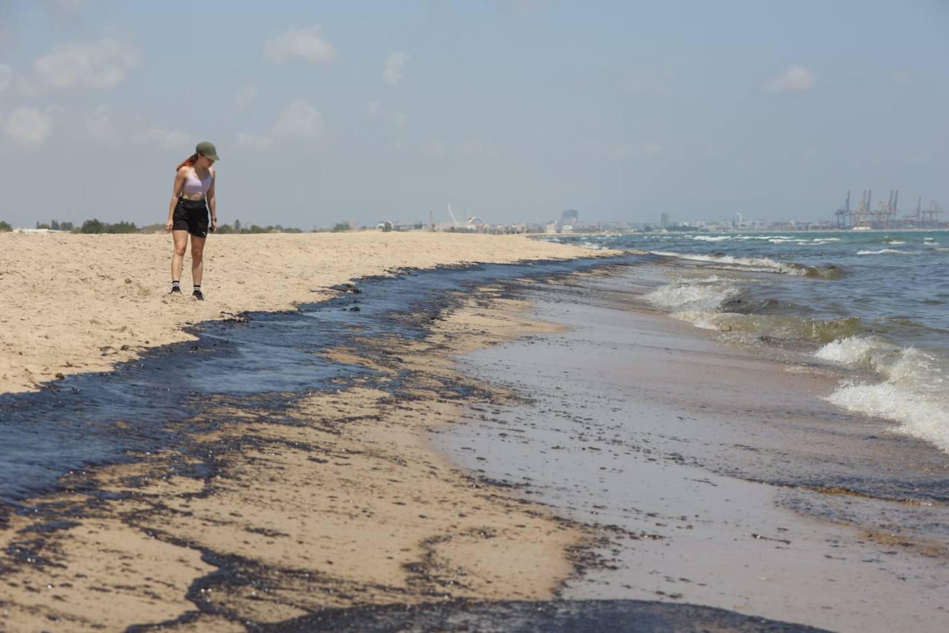
<path id="1" fill-rule="evenodd" d="M 217 150 L 208 141 L 195 147 L 195 154 L 177 167 L 172 203 L 168 208 L 165 231 L 175 239 L 175 254 L 172 255 L 172 292 L 181 292 L 181 268 L 184 266 L 184 251 L 188 248 L 191 233 L 191 276 L 195 282 L 193 296 L 204 301 L 201 293 L 204 241 L 208 237 L 208 212 L 211 212 L 211 232 L 217 229 L 217 211 L 214 208 L 214 161 Z"/>

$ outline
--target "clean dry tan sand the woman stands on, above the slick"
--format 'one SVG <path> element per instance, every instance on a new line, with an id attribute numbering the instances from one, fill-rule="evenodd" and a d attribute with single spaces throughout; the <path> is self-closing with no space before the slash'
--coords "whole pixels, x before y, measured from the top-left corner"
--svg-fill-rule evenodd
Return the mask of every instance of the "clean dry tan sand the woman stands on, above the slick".
<path id="1" fill-rule="evenodd" d="M 243 311 L 286 310 L 330 287 L 400 268 L 603 254 L 524 235 L 280 233 L 212 235 L 207 301 L 170 296 L 168 234 L 0 233 L 0 393 L 101 371 L 141 350 L 193 337 L 182 326 Z"/>

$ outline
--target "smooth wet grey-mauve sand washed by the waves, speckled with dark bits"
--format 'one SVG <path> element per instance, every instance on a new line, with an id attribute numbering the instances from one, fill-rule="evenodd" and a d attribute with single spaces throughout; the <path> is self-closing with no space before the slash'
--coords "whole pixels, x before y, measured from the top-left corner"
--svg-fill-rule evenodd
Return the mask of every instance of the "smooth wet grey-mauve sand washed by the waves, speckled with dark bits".
<path id="1" fill-rule="evenodd" d="M 568 599 L 710 605 L 843 631 L 940 630 L 944 454 L 821 400 L 828 367 L 778 362 L 652 311 L 641 271 L 525 290 L 564 326 L 463 356 L 530 398 L 478 407 L 433 444 L 553 512 L 600 526 Z"/>

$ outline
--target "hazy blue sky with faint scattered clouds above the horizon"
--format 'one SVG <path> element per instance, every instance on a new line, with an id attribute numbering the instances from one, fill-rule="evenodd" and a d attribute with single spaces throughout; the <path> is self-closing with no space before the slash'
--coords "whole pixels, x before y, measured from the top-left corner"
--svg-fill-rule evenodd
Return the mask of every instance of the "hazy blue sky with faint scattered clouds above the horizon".
<path id="1" fill-rule="evenodd" d="M 0 0 L 0 219 L 949 209 L 949 0 Z"/>

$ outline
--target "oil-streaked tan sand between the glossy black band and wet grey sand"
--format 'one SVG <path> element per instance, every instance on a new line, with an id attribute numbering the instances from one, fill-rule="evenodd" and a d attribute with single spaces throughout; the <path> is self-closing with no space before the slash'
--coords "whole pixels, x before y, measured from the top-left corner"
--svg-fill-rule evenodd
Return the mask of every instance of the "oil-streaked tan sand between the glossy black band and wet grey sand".
<path id="1" fill-rule="evenodd" d="M 30 499 L 19 512 L 0 510 L 0 582 L 9 594 L 0 599 L 0 623 L 11 630 L 102 622 L 321 630 L 327 618 L 355 619 L 351 630 L 362 630 L 405 617 L 487 624 L 500 609 L 528 624 L 658 618 L 682 630 L 697 622 L 798 630 L 696 605 L 550 602 L 566 595 L 571 579 L 612 565 L 603 549 L 613 547 L 603 540 L 610 532 L 585 525 L 596 521 L 563 518 L 520 486 L 459 469 L 433 451 L 428 438 L 451 432 L 462 407 L 486 412 L 523 401 L 459 373 L 459 354 L 563 331 L 529 314 L 512 287 L 574 289 L 599 276 L 531 268 L 477 289 L 436 284 L 431 305 L 422 298 L 409 313 L 397 310 L 379 330 L 363 325 L 318 362 L 369 372 L 330 377 L 340 390 L 225 390 L 175 422 L 173 433 L 184 438 L 177 444 L 133 452 L 131 463 L 77 470 L 57 493 Z M 437 281 L 459 272 L 419 276 Z M 534 276 L 525 281 L 525 274 Z M 370 290 L 379 284 L 350 289 L 312 317 L 330 331 L 335 322 L 325 319 L 351 307 L 371 319 L 378 294 Z M 416 280 L 397 286 L 418 295 Z M 392 287 L 383 288 L 388 297 Z M 274 316 L 206 334 L 224 341 L 222 332 L 263 328 L 279 344 L 280 328 L 294 332 L 295 322 Z M 180 352 L 216 353 L 207 346 Z"/>

